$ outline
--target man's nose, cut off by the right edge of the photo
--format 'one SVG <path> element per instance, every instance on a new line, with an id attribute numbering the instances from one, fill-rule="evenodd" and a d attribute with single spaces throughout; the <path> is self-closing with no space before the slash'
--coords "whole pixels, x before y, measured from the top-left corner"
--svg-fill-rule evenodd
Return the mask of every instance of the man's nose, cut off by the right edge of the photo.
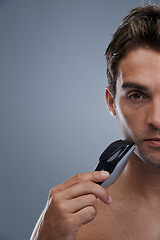
<path id="1" fill-rule="evenodd" d="M 160 97 L 159 99 L 155 99 L 150 105 L 147 123 L 152 126 L 152 128 L 160 130 Z"/>

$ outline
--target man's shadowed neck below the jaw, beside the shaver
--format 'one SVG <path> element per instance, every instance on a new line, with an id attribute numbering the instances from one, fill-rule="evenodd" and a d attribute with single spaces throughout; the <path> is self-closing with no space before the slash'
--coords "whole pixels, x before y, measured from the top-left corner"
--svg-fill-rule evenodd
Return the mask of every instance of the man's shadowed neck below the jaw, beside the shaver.
<path id="1" fill-rule="evenodd" d="M 129 185 L 128 189 L 134 190 L 139 196 L 160 199 L 160 167 L 151 166 L 132 154 L 122 175 L 122 179 Z"/>

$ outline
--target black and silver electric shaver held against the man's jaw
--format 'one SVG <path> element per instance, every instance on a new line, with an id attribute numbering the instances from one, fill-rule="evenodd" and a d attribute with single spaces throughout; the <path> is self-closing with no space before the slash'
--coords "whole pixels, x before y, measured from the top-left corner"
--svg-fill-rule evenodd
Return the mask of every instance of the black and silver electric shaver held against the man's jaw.
<path id="1" fill-rule="evenodd" d="M 135 144 L 125 140 L 118 140 L 111 143 L 101 154 L 99 163 L 95 169 L 95 171 L 108 171 L 110 177 L 98 184 L 107 188 L 115 183 L 123 172 L 134 149 Z"/>

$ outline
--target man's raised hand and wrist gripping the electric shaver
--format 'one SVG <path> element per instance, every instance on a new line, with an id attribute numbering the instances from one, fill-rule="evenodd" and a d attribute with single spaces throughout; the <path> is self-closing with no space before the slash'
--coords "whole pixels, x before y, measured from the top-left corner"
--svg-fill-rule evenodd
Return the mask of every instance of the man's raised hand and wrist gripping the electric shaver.
<path id="1" fill-rule="evenodd" d="M 111 203 L 106 189 L 96 184 L 108 178 L 104 171 L 82 173 L 52 188 L 30 240 L 75 240 L 80 227 L 97 215 L 97 198 Z"/>

